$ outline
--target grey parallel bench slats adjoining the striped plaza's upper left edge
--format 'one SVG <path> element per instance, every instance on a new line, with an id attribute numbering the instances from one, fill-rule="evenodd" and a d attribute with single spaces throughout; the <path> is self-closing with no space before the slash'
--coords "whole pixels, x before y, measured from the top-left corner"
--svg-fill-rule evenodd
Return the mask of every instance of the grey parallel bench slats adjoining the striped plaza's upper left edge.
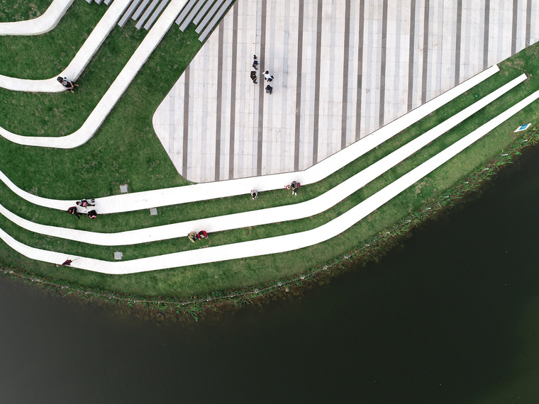
<path id="1" fill-rule="evenodd" d="M 204 42 L 214 28 L 218 25 L 226 11 L 235 0 L 190 0 L 182 13 L 179 14 L 176 23 L 179 29 L 184 31 L 194 23 L 199 40 Z"/>

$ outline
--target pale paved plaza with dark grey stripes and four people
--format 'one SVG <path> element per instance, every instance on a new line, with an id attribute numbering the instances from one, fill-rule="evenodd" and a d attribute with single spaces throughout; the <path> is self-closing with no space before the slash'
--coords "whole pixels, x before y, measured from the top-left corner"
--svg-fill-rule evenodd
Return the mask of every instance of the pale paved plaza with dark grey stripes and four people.
<path id="1" fill-rule="evenodd" d="M 237 0 L 154 127 L 191 181 L 303 170 L 535 43 L 538 9 L 530 0 Z"/>

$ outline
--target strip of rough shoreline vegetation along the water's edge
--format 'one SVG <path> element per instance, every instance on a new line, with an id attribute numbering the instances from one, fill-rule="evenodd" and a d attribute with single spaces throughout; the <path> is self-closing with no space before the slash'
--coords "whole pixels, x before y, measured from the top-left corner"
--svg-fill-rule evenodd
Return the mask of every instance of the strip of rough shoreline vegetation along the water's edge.
<path id="1" fill-rule="evenodd" d="M 301 274 L 266 282 L 249 288 L 230 289 L 226 291 L 213 291 L 202 296 L 189 298 L 170 298 L 123 295 L 113 291 L 104 291 L 95 288 L 86 288 L 77 284 L 60 284 L 43 276 L 32 274 L 6 264 L 0 264 L 0 275 L 26 284 L 32 284 L 52 296 L 67 298 L 74 296 L 87 303 L 98 305 L 107 304 L 111 308 L 119 308 L 116 313 L 131 312 L 139 318 L 150 320 L 163 319 L 193 319 L 205 318 L 211 312 L 241 308 L 244 305 L 275 301 L 279 296 L 292 294 L 298 296 L 313 284 L 324 284 L 331 276 L 338 276 L 341 271 L 352 265 L 365 266 L 369 262 L 377 262 L 399 241 L 412 237 L 412 230 L 418 228 L 428 220 L 433 220 L 440 213 L 452 208 L 457 203 L 466 203 L 466 198 L 474 191 L 479 191 L 485 181 L 492 179 L 501 169 L 513 164 L 514 159 L 522 155 L 526 147 L 539 143 L 539 125 L 524 133 L 521 138 L 513 142 L 505 150 L 489 159 L 474 172 L 460 179 L 450 189 L 438 198 L 428 201 L 417 211 L 402 218 L 397 223 L 380 230 L 377 235 L 365 240 L 354 249 L 340 254 L 328 262 L 315 266 Z"/>

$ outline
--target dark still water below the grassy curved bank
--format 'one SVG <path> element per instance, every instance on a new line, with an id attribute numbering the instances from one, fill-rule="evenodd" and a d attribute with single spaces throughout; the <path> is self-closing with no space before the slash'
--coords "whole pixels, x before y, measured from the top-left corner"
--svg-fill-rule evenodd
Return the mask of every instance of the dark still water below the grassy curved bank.
<path id="1" fill-rule="evenodd" d="M 535 149 L 380 264 L 221 321 L 0 279 L 0 402 L 539 402 Z"/>

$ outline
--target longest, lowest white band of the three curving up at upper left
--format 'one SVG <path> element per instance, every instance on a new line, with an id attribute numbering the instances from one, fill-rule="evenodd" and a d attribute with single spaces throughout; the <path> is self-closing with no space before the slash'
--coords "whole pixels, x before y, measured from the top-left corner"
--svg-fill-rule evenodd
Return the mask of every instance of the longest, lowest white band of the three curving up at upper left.
<path id="1" fill-rule="evenodd" d="M 116 0 L 118 1 L 118 0 Z M 116 3 L 116 1 L 114 3 Z M 148 60 L 155 47 L 159 45 L 165 33 L 174 23 L 174 19 L 182 10 L 187 0 L 172 0 L 165 11 L 157 19 L 157 22 L 152 26 L 144 40 L 138 46 L 137 50 L 130 57 L 126 66 L 123 67 L 116 80 L 106 91 L 104 96 L 97 103 L 94 111 L 91 111 L 89 117 L 82 126 L 71 135 L 61 136 L 57 138 L 47 138 L 40 136 L 23 136 L 11 133 L 9 130 L 0 128 L 0 135 L 11 142 L 19 145 L 38 146 L 38 147 L 54 147 L 57 149 L 72 149 L 80 145 L 84 145 L 97 132 L 106 116 L 109 115 L 112 108 L 116 105 L 123 93 L 126 91 L 129 84 L 133 81 L 136 74 L 143 67 L 143 64 Z"/>

